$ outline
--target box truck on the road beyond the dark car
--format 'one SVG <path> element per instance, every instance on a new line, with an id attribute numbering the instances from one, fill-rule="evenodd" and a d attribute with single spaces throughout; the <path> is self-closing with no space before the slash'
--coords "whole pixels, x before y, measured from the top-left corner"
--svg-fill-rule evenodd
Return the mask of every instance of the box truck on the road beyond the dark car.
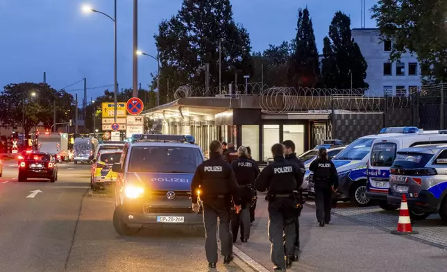
<path id="1" fill-rule="evenodd" d="M 42 133 L 38 136 L 39 151 L 53 155 L 58 162 L 69 159 L 67 133 Z"/>

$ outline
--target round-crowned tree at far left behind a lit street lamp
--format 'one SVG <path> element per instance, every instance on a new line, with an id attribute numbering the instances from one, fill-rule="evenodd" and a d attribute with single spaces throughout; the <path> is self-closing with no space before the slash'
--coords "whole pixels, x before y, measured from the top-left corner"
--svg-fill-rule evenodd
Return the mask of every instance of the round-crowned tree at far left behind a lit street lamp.
<path id="1" fill-rule="evenodd" d="M 56 108 L 53 107 L 53 101 Z M 0 94 L 0 122 L 8 126 L 22 126 L 25 135 L 28 135 L 40 123 L 48 128 L 53 125 L 54 110 L 58 122 L 68 121 L 72 103 L 71 94 L 57 91 L 46 83 L 6 85 Z"/>

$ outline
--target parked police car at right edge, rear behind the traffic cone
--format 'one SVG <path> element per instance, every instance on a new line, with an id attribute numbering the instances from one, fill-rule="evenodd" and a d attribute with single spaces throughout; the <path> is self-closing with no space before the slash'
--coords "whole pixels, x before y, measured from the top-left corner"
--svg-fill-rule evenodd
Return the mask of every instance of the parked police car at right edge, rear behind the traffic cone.
<path id="1" fill-rule="evenodd" d="M 405 194 L 412 219 L 439 213 L 447 224 L 447 145 L 402 149 L 390 172 L 389 205 L 399 207 Z"/>

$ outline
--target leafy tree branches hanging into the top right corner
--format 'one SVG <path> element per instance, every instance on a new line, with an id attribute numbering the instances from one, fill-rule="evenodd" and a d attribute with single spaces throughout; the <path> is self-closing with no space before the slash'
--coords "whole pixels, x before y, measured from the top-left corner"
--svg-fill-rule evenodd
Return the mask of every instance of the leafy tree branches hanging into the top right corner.
<path id="1" fill-rule="evenodd" d="M 402 53 L 414 53 L 424 68 L 424 80 L 447 80 L 445 1 L 380 0 L 371 11 L 382 41 L 393 43 L 391 61 L 399 60 Z"/>

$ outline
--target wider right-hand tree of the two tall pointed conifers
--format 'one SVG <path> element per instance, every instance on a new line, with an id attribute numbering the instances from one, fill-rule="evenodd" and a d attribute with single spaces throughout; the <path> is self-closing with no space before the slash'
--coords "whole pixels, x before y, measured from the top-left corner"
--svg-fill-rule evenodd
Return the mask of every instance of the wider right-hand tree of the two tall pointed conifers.
<path id="1" fill-rule="evenodd" d="M 324 39 L 322 63 L 325 87 L 368 87 L 364 81 L 368 64 L 351 36 L 351 19 L 341 11 L 335 13 L 329 26 L 329 37 Z"/>

